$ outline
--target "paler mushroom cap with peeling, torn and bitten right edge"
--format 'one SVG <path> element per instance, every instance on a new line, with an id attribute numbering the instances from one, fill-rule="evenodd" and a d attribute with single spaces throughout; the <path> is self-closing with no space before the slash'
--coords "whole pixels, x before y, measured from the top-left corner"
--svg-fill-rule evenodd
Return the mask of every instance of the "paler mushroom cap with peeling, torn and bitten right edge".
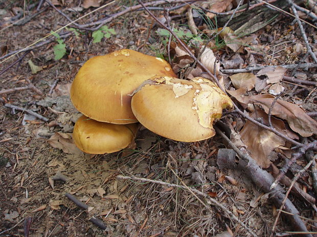
<path id="1" fill-rule="evenodd" d="M 213 123 L 231 99 L 202 77 L 192 81 L 154 76 L 132 97 L 132 111 L 146 128 L 163 137 L 195 142 L 215 135 Z"/>

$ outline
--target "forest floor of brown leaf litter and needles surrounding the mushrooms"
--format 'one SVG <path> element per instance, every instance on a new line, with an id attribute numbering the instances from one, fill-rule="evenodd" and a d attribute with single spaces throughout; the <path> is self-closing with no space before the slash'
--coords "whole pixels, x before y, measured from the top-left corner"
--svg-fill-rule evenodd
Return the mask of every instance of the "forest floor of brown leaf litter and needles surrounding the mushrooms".
<path id="1" fill-rule="evenodd" d="M 215 17 L 206 9 L 231 11 L 232 15 L 236 1 L 207 4 L 187 0 L 165 5 L 149 1 L 147 5 L 196 57 L 199 48 L 210 40 L 207 59 L 201 57 L 201 62 L 213 70 L 219 84 L 248 116 L 243 117 L 237 109 L 226 111 L 222 125 L 229 129 L 234 146 L 247 150 L 256 160 L 264 175 L 260 177 L 258 173 L 253 175 L 255 171 L 250 167 L 224 165 L 219 149 L 233 147 L 219 133 L 207 140 L 184 143 L 143 128 L 133 149 L 103 155 L 80 151 L 73 144 L 72 131 L 81 114 L 70 101 L 69 89 L 89 58 L 129 48 L 169 61 L 170 47 L 170 63 L 179 78 L 187 74 L 188 78 L 204 76 L 213 80 L 213 76 L 199 65 L 186 73 L 194 60 L 144 9 L 117 14 L 138 5 L 138 1 L 40 2 L 0 3 L 0 236 L 317 233 L 315 8 L 297 2 L 308 11 L 312 9 L 299 12 L 306 21 L 301 21 L 304 34 L 295 17 L 277 10 L 265 15 L 263 25 L 254 32 L 239 33 L 241 25 L 237 21 L 254 22 L 254 26 L 259 13 L 253 11 L 271 9 L 263 4 L 255 7 L 251 2 L 244 13 L 249 19 L 234 17 L 235 24 L 228 24 L 235 32 L 225 29 L 210 40 L 228 21 L 221 21 L 228 15 Z M 271 2 L 284 2 L 284 10 L 293 14 L 287 1 Z M 78 19 L 107 3 L 109 6 L 79 19 L 77 25 L 42 39 L 70 23 L 69 19 Z M 163 7 L 170 10 L 164 13 Z M 100 19 L 110 20 L 98 30 Z M 88 23 L 92 24 L 84 25 Z M 307 37 L 309 48 L 303 37 Z M 39 39 L 32 50 L 11 53 Z M 220 71 L 213 69 L 215 59 L 220 62 Z M 270 67 L 277 65 L 290 66 Z M 254 125 L 250 117 L 265 127 Z M 267 130 L 269 124 L 278 134 Z M 278 190 L 269 191 L 264 181 L 261 185 L 257 180 L 273 181 L 278 169 L 287 165 Z M 287 193 L 287 199 L 285 193 L 292 180 L 293 191 Z M 65 194 L 74 198 L 70 200 Z M 282 196 L 277 202 L 274 197 L 278 195 Z M 285 205 L 291 202 L 293 207 L 284 208 L 280 215 L 284 197 Z M 87 205 L 86 209 L 74 202 L 78 200 Z M 289 216 L 299 216 L 299 222 Z M 91 218 L 102 223 L 93 223 Z M 302 228 L 297 228 L 301 224 Z"/>

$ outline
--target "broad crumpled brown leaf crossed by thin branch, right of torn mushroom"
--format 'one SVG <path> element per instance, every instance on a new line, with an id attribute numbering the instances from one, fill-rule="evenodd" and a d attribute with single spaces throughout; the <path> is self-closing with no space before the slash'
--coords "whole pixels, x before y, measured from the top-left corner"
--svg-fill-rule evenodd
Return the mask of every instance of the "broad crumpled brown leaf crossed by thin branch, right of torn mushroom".
<path id="1" fill-rule="evenodd" d="M 257 119 L 261 118 L 264 123 L 268 123 L 268 116 L 264 111 L 256 110 L 250 116 Z M 285 126 L 283 127 L 284 123 L 281 120 L 272 117 L 271 122 L 277 130 L 286 133 L 286 131 L 283 131 Z M 268 168 L 271 164 L 271 161 L 267 157 L 268 154 L 274 148 L 285 145 L 285 139 L 250 121 L 246 121 L 240 131 L 240 135 L 244 144 L 247 145 L 248 151 L 251 152 L 253 159 L 262 168 Z"/>

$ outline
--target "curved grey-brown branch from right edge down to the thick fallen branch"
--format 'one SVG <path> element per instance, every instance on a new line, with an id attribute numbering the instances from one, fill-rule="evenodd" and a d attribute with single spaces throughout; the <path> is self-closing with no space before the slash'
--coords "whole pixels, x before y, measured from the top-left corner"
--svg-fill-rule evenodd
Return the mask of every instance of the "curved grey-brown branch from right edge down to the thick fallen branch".
<path id="1" fill-rule="evenodd" d="M 279 180 L 285 175 L 285 173 L 288 171 L 289 167 L 292 164 L 294 164 L 296 162 L 296 160 L 299 159 L 299 157 L 302 157 L 303 154 L 305 154 L 308 149 L 317 149 L 317 141 L 305 144 L 299 148 L 298 152 L 292 153 L 291 159 L 288 160 L 287 162 L 285 162 L 284 166 L 280 169 L 280 173 L 277 176 L 277 178 L 275 179 L 275 181 L 272 183 L 271 189 L 274 189 L 277 186 Z"/>

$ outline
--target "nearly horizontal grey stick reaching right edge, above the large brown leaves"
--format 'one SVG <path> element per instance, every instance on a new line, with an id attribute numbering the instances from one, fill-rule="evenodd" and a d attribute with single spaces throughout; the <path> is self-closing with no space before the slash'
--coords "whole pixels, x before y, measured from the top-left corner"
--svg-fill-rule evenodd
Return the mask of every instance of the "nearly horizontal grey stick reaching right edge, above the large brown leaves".
<path id="1" fill-rule="evenodd" d="M 246 67 L 241 69 L 222 69 L 220 70 L 222 73 L 241 73 L 241 72 L 254 72 L 254 71 L 260 71 L 261 69 L 265 67 L 284 67 L 286 69 L 294 69 L 297 66 L 299 66 L 299 69 L 307 70 L 309 68 L 316 68 L 317 64 L 315 63 L 301 63 L 301 64 L 287 64 L 287 65 L 274 65 L 274 66 L 256 66 L 256 67 Z"/>

